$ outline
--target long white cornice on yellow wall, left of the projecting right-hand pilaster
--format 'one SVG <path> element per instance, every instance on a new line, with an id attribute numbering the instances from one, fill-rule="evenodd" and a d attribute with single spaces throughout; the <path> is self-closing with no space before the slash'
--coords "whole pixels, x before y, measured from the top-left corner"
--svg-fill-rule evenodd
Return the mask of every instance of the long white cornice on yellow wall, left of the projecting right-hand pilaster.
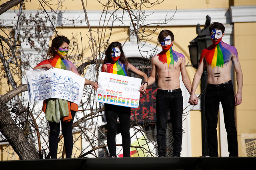
<path id="1" fill-rule="evenodd" d="M 17 11 L 16 11 L 17 12 Z M 36 14 L 36 10 L 24 10 L 26 14 Z M 61 12 L 59 11 L 59 14 Z M 53 15 L 51 12 L 48 15 Z M 102 11 L 87 11 L 87 15 L 90 21 L 91 27 L 98 26 L 111 26 L 113 24 L 114 27 L 118 26 L 129 26 L 130 25 L 130 17 L 128 13 L 123 11 L 117 11 L 116 16 L 120 18 L 120 20 L 109 20 L 103 21 L 104 17 L 101 17 Z M 144 15 L 147 16 L 147 19 L 144 21 L 144 25 L 154 23 L 150 26 L 156 26 L 159 23 L 163 23 L 166 20 L 172 18 L 169 22 L 164 23 L 164 26 L 181 26 L 181 25 L 204 25 L 206 21 L 206 16 L 211 17 L 211 21 L 218 21 L 223 24 L 231 23 L 230 12 L 226 8 L 216 8 L 216 9 L 189 9 L 189 10 L 145 10 Z M 43 14 L 40 16 L 44 17 Z M 15 17 L 15 18 L 14 18 Z M 63 18 L 58 17 L 57 23 L 58 26 L 63 27 L 87 27 L 87 24 L 84 19 L 84 11 L 65 11 L 62 15 Z M 13 25 L 16 22 L 17 16 L 15 11 L 9 10 L 0 16 L 0 20 L 5 20 L 6 23 L 2 23 L 1 25 Z M 100 20 L 102 18 L 102 20 Z M 107 19 L 111 18 L 111 14 L 107 14 Z"/>

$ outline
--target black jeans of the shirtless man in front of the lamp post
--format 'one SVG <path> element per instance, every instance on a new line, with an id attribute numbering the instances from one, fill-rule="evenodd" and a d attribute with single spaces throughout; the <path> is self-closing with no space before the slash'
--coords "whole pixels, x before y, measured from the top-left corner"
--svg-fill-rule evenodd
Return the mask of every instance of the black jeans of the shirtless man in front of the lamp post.
<path id="1" fill-rule="evenodd" d="M 220 102 L 223 108 L 224 123 L 228 134 L 229 156 L 238 156 L 238 143 L 235 124 L 235 98 L 232 81 L 222 84 L 207 84 L 205 115 L 208 124 L 207 141 L 210 156 L 218 156 L 217 124 Z"/>

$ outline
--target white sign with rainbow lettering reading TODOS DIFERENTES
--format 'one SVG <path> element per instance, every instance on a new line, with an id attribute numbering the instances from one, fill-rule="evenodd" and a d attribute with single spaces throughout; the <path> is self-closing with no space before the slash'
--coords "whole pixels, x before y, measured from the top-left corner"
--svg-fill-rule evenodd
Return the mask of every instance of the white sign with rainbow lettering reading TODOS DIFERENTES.
<path id="1" fill-rule="evenodd" d="M 96 102 L 138 108 L 141 78 L 100 72 Z"/>

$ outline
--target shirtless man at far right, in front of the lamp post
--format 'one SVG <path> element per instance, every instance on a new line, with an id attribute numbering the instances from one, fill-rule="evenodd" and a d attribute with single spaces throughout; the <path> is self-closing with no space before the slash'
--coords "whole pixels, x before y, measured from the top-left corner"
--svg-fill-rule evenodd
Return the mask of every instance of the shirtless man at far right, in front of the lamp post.
<path id="1" fill-rule="evenodd" d="M 220 102 L 223 108 L 224 123 L 228 134 L 229 156 L 238 156 L 237 132 L 234 109 L 242 103 L 243 74 L 235 47 L 222 41 L 225 27 L 222 23 L 214 22 L 209 26 L 212 45 L 202 50 L 200 64 L 192 83 L 189 103 L 198 104 L 195 95 L 204 68 L 207 68 L 208 79 L 205 97 L 205 114 L 207 127 L 207 142 L 210 156 L 218 156 L 217 124 Z M 234 66 L 236 71 L 237 93 L 234 95 L 230 72 Z M 201 89 L 202 91 L 203 89 Z"/>

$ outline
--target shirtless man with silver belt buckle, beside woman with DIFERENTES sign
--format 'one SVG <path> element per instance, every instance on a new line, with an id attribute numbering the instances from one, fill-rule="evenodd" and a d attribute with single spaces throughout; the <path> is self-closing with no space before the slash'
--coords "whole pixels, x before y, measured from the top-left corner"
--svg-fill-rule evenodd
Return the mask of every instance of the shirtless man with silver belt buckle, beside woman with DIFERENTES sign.
<path id="1" fill-rule="evenodd" d="M 168 113 L 172 121 L 174 137 L 173 155 L 180 156 L 182 145 L 182 112 L 183 99 L 180 89 L 180 73 L 188 92 L 191 82 L 186 72 L 186 61 L 183 54 L 172 49 L 174 34 L 170 30 L 162 30 L 158 35 L 162 51 L 152 57 L 152 72 L 148 78 L 148 86 L 156 81 L 158 75 L 158 90 L 156 94 L 156 140 L 158 157 L 166 156 L 166 126 Z"/>

